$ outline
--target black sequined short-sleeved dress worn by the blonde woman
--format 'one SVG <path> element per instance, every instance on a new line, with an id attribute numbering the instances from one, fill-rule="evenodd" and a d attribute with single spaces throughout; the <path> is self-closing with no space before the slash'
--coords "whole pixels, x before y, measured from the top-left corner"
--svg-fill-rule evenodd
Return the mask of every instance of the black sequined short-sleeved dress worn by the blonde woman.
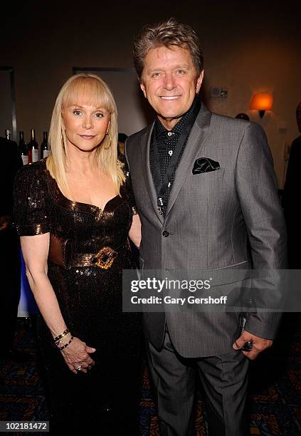
<path id="1" fill-rule="evenodd" d="M 102 414 L 107 413 L 103 411 L 112 408 L 121 415 L 125 412 L 126 430 L 128 417 L 137 411 L 142 328 L 139 314 L 122 313 L 122 269 L 134 268 L 127 237 L 135 213 L 125 160 L 124 164 L 126 181 L 121 197 L 110 199 L 103 210 L 66 198 L 46 169 L 46 160 L 24 166 L 16 176 L 14 222 L 19 235 L 50 232 L 73 239 L 74 251 L 85 254 L 125 243 L 109 269 L 94 265 L 66 269 L 48 261 L 48 278 L 66 326 L 73 336 L 96 348 L 91 354 L 95 366 L 87 374 L 75 375 L 60 351 L 53 348 L 51 333 L 38 316 L 38 342 L 53 423 L 60 428 L 83 425 L 88 429 L 89 422 L 94 421 L 92 428 L 96 429 L 96 420 L 101 430 Z"/>

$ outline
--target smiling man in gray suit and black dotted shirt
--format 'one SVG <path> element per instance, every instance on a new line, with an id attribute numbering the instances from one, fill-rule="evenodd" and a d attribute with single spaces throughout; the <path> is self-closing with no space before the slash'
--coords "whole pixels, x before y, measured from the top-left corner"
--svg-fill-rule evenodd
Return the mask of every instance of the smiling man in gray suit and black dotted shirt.
<path id="1" fill-rule="evenodd" d="M 263 129 L 211 113 L 196 33 L 170 19 L 143 28 L 134 65 L 157 113 L 125 154 L 142 222 L 141 269 L 282 269 L 285 225 Z M 225 285 L 226 286 L 226 285 Z M 144 313 L 160 434 L 194 434 L 195 373 L 213 436 L 248 435 L 248 358 L 272 345 L 278 313 Z M 250 343 L 250 351 L 241 348 Z"/>

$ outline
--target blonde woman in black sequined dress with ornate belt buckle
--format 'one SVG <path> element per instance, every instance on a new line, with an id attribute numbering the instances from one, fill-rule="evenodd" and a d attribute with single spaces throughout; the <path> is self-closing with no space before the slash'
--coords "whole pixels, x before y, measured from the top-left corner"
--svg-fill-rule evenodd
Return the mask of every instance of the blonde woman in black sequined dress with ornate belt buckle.
<path id="1" fill-rule="evenodd" d="M 115 434 L 117 411 L 134 435 L 141 328 L 122 313 L 122 269 L 134 267 L 128 237 L 139 246 L 140 222 L 117 160 L 115 101 L 98 76 L 63 85 L 49 141 L 49 157 L 16 177 L 14 222 L 40 312 L 52 429 Z"/>

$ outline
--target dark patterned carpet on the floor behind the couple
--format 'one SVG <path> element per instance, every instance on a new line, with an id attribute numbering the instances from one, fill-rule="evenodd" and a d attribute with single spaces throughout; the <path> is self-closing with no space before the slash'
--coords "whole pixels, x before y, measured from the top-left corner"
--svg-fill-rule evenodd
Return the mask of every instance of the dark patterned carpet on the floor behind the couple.
<path id="1" fill-rule="evenodd" d="M 273 348 L 250 365 L 250 435 L 301 435 L 300 331 L 300 318 L 296 321 L 296 316 L 287 314 Z M 7 358 L 0 360 L 0 420 L 48 420 L 36 340 L 27 318 L 18 318 L 15 348 L 28 353 L 29 357 L 24 363 Z M 140 429 L 142 436 L 159 436 L 147 365 L 141 388 Z M 196 433 L 197 436 L 207 435 L 201 390 Z"/>

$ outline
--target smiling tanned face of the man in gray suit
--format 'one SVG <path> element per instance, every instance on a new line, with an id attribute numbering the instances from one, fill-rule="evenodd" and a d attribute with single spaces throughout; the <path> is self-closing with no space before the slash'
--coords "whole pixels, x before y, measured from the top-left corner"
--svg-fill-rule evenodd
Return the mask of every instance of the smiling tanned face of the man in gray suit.
<path id="1" fill-rule="evenodd" d="M 172 129 L 189 110 L 201 88 L 204 71 L 196 77 L 196 68 L 186 48 L 151 48 L 144 58 L 140 87 L 159 120 Z"/>

